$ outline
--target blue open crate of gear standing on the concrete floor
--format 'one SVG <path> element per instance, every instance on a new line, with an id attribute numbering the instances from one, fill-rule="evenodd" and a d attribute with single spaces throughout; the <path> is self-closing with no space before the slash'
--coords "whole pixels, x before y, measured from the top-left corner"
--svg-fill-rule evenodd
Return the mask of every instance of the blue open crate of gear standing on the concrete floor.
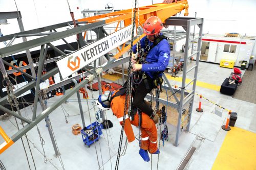
<path id="1" fill-rule="evenodd" d="M 90 148 L 90 145 L 95 141 L 99 140 L 100 135 L 102 135 L 102 129 L 103 126 L 96 121 L 81 130 L 82 141 L 84 144 L 87 144 L 88 148 Z"/>

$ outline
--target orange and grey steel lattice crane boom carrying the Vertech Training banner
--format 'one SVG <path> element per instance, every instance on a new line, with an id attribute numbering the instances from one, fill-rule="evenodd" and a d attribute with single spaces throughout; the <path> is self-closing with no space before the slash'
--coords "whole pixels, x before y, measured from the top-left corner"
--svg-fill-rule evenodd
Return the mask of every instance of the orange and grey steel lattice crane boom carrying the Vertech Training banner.
<path id="1" fill-rule="evenodd" d="M 112 13 L 108 13 L 108 14 L 102 14 L 102 15 L 77 19 L 76 24 L 79 25 L 79 27 L 73 28 L 70 30 L 66 30 L 66 31 L 61 31 L 61 32 L 52 32 L 52 31 L 56 31 L 55 29 L 58 29 L 58 28 L 68 27 L 72 24 L 72 21 L 63 22 L 63 23 L 59 23 L 57 25 L 47 26 L 44 28 L 38 28 L 38 29 L 34 29 L 34 30 L 29 30 L 29 31 L 24 31 L 24 32 L 20 32 L 20 33 L 3 36 L 3 37 L 0 37 L 0 42 L 11 40 L 12 43 L 18 37 L 28 37 L 28 36 L 43 36 L 43 37 L 25 41 L 25 42 L 18 43 L 18 44 L 13 44 L 13 45 L 11 45 L 12 43 L 10 43 L 7 47 L 0 49 L 0 57 L 3 58 L 3 57 L 6 57 L 9 55 L 18 53 L 18 52 L 22 52 L 24 50 L 29 50 L 33 47 L 41 46 L 40 58 L 42 58 L 42 59 L 39 61 L 39 63 L 36 64 L 36 66 L 38 65 L 38 69 L 40 70 L 45 64 L 45 59 L 43 59 L 45 57 L 44 52 L 47 51 L 46 50 L 47 47 L 45 48 L 45 44 L 47 44 L 46 46 L 51 46 L 56 52 L 61 54 L 61 56 L 57 57 L 56 60 L 59 58 L 68 57 L 69 55 L 66 55 L 64 52 L 60 51 L 57 47 L 52 45 L 51 42 L 60 40 L 60 39 L 64 40 L 64 38 L 66 38 L 66 37 L 79 34 L 80 40 L 78 42 L 80 44 L 80 47 L 82 47 L 84 45 L 87 45 L 87 43 L 84 41 L 81 33 L 87 32 L 89 30 L 96 30 L 97 31 L 96 32 L 97 39 L 100 39 L 100 38 L 108 35 L 105 32 L 105 30 L 103 29 L 103 26 L 117 22 L 117 27 L 116 27 L 115 31 L 118 31 L 118 25 L 120 25 L 121 21 L 123 21 L 124 27 L 131 25 L 133 10 L 136 10 L 136 28 L 138 28 L 138 26 L 142 27 L 144 21 L 152 15 L 158 16 L 161 20 L 163 20 L 163 22 L 170 16 L 173 16 L 173 15 L 181 12 L 182 10 L 185 10 L 184 15 L 187 16 L 188 15 L 188 3 L 186 0 L 180 0 L 180 1 L 176 1 L 174 3 L 170 3 L 170 4 L 164 4 L 164 3 L 163 4 L 154 4 L 154 5 L 144 6 L 144 7 L 140 7 L 140 8 L 136 8 L 136 9 L 122 10 L 122 11 L 112 12 Z M 81 26 L 80 24 L 83 24 L 83 23 L 85 25 Z M 43 32 L 48 32 L 48 31 L 49 31 L 49 33 L 43 33 Z M 137 43 L 137 41 L 140 38 L 142 38 L 143 36 L 145 36 L 145 35 L 142 34 L 142 35 L 140 35 L 139 38 L 135 39 L 134 44 Z M 131 47 L 131 44 L 125 46 L 125 43 L 122 45 L 121 48 L 118 47 L 119 53 L 117 53 L 114 56 L 114 58 L 118 59 L 121 55 L 123 55 L 125 52 L 127 52 L 130 49 L 130 47 Z M 30 131 L 34 126 L 36 126 L 41 120 L 43 120 L 46 116 L 48 116 L 53 110 L 55 110 L 63 102 L 65 102 L 67 99 L 69 99 L 72 94 L 77 92 L 81 87 L 83 87 L 87 83 L 91 82 L 93 80 L 93 78 L 95 77 L 95 75 L 99 75 L 102 72 L 102 70 L 111 68 L 116 65 L 120 65 L 124 62 L 127 62 L 127 59 L 124 58 L 121 61 L 110 62 L 109 64 L 106 64 L 101 68 L 95 68 L 95 65 L 94 65 L 94 68 L 91 69 L 91 71 L 89 71 L 89 72 L 94 72 L 95 74 L 90 75 L 89 72 L 84 73 L 84 76 L 88 76 L 88 78 L 84 79 L 79 84 L 77 84 L 73 89 L 69 90 L 65 95 L 63 95 L 58 101 L 56 101 L 54 104 L 52 104 L 46 110 L 42 111 L 40 114 L 37 114 L 37 115 L 36 115 L 36 111 L 35 112 L 33 111 L 32 121 L 30 121 L 27 118 L 25 118 L 21 115 L 18 115 L 14 111 L 11 111 L 4 107 L 4 104 L 7 103 L 8 96 L 5 96 L 4 98 L 0 99 L 0 109 L 1 110 L 3 110 L 4 112 L 7 112 L 9 114 L 12 114 L 16 118 L 23 120 L 24 122 L 27 123 L 27 125 L 24 128 L 20 129 L 18 132 L 13 134 L 11 137 L 9 137 L 5 133 L 5 131 L 0 127 L 0 134 L 2 135 L 2 137 L 5 140 L 5 142 L 0 145 L 0 154 L 3 153 L 6 149 L 8 149 L 14 142 L 16 142 L 18 139 L 20 139 L 28 131 Z M 2 64 L 2 66 L 3 66 L 3 63 L 0 63 L 0 64 Z M 34 65 L 33 63 L 30 63 L 27 66 L 23 66 L 20 68 L 14 68 L 14 69 L 16 72 L 25 69 L 25 67 L 26 67 L 26 69 L 27 68 L 34 69 L 33 65 Z M 7 72 L 6 72 L 6 70 L 4 70 L 4 66 L 1 69 L 2 69 L 2 72 L 4 72 L 4 74 L 5 74 L 4 76 L 6 76 Z M 29 82 L 24 87 L 14 91 L 13 94 L 15 96 L 19 96 L 20 94 L 23 94 L 27 90 L 30 90 L 34 87 L 36 87 L 36 93 L 38 93 L 39 82 L 44 81 L 57 73 L 58 73 L 57 68 L 50 70 L 47 74 L 42 75 L 42 76 L 41 76 L 41 72 L 38 71 L 37 79 L 34 78 L 31 82 Z M 40 78 L 40 79 L 38 79 L 38 78 Z M 70 83 L 71 79 L 78 80 L 80 78 L 81 78 L 81 75 L 79 74 L 75 77 L 69 78 L 67 80 L 63 80 L 58 84 L 54 84 L 54 85 L 50 86 L 49 91 L 51 89 L 63 86 L 64 84 Z M 34 105 L 37 105 L 37 99 L 35 99 Z"/>

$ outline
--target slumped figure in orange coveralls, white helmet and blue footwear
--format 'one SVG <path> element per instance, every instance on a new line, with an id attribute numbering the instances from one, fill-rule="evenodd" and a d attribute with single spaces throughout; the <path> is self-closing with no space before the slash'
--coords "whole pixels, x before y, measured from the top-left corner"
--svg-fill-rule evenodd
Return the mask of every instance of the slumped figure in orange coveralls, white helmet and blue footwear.
<path id="1" fill-rule="evenodd" d="M 103 87 L 102 89 L 106 90 L 107 88 Z M 125 87 L 114 91 L 106 90 L 103 91 L 102 95 L 99 95 L 99 98 L 97 100 L 97 106 L 99 109 L 105 111 L 112 109 L 112 112 L 119 120 L 120 125 L 122 125 L 123 121 L 125 91 Z M 156 117 L 158 117 L 158 115 Z M 160 153 L 159 149 L 157 148 L 157 128 L 155 125 L 158 122 L 158 119 L 154 122 L 150 116 L 143 112 L 141 113 L 141 118 L 141 143 L 139 154 L 144 159 L 144 161 L 150 161 L 148 152 L 151 154 Z M 124 132 L 128 142 L 132 142 L 135 140 L 134 132 L 131 125 L 134 125 L 136 127 L 139 126 L 138 112 L 136 112 L 133 120 L 131 120 L 127 114 L 125 115 Z"/>

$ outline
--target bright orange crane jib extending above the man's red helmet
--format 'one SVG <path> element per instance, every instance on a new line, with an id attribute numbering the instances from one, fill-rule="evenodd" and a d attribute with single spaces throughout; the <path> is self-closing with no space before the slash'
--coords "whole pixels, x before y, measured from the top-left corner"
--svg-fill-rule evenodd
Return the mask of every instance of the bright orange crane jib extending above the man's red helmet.
<path id="1" fill-rule="evenodd" d="M 161 4 L 154 4 L 154 5 L 149 5 L 149 6 L 144 6 L 144 7 L 139 7 L 136 8 L 136 28 L 138 26 L 143 25 L 145 20 L 150 17 L 150 16 L 158 16 L 163 23 L 167 18 L 170 16 L 174 16 L 177 13 L 181 12 L 182 10 L 185 10 L 184 16 L 188 15 L 188 3 L 187 0 L 180 0 L 180 1 L 175 1 L 174 3 L 169 3 L 168 2 L 173 2 L 173 1 L 164 1 L 166 3 L 161 3 Z M 127 9 L 127 10 L 122 10 L 122 11 L 117 11 L 117 12 L 111 12 L 108 14 L 102 14 L 102 15 L 96 15 L 96 16 L 91 16 L 91 17 L 86 17 L 82 19 L 77 19 L 78 22 L 88 22 L 88 23 L 94 23 L 98 21 L 104 21 L 106 24 L 111 24 L 117 22 L 117 27 L 120 23 L 120 21 L 123 21 L 124 27 L 131 25 L 132 23 L 132 12 L 134 9 Z M 139 15 L 139 17 L 138 17 Z M 117 31 L 117 29 L 115 30 Z M 145 36 L 145 34 L 142 34 L 140 38 Z M 137 43 L 137 41 L 140 39 L 137 38 L 134 40 L 134 44 Z M 126 51 L 130 50 L 131 44 L 127 46 L 122 46 L 122 49 L 118 48 L 119 53 L 117 53 L 114 58 L 118 59 L 121 55 L 123 55 Z"/>

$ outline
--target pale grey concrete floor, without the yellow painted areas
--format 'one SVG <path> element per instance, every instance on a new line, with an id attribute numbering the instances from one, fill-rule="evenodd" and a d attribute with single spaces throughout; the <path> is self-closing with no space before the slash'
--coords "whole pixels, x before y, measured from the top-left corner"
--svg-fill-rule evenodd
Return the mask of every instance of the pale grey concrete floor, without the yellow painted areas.
<path id="1" fill-rule="evenodd" d="M 194 65 L 194 62 L 195 61 L 189 64 L 188 67 Z M 229 77 L 231 71 L 232 69 L 219 67 L 217 64 L 200 62 L 197 80 L 220 86 L 224 79 Z M 187 78 L 193 78 L 192 71 L 189 72 Z M 181 85 L 181 82 L 172 80 L 170 81 L 170 84 Z M 191 86 L 188 86 L 188 89 L 191 88 Z M 256 132 L 256 114 L 254 114 L 256 111 L 256 104 L 233 99 L 232 96 L 223 95 L 219 91 L 211 90 L 206 87 L 198 86 L 196 88 L 196 92 L 204 95 L 205 98 L 220 104 L 228 110 L 237 112 L 238 119 L 236 122 L 236 127 L 254 133 Z M 90 99 L 88 101 L 90 115 L 92 122 L 94 122 L 95 111 L 92 106 L 91 92 L 89 93 Z M 97 98 L 98 92 L 93 92 L 93 96 L 94 98 Z M 59 97 L 60 96 L 55 96 L 54 98 L 50 99 L 48 101 L 48 106 L 50 106 L 54 101 L 58 100 Z M 80 125 L 82 124 L 80 115 L 77 115 L 79 114 L 79 107 L 76 99 L 76 94 L 74 94 L 69 99 L 68 103 L 62 104 L 62 106 L 70 114 L 70 116 L 67 117 L 68 124 L 66 123 L 65 115 L 61 107 L 58 107 L 49 116 L 58 144 L 58 149 L 61 153 L 63 166 L 65 169 L 99 169 L 99 166 L 101 167 L 100 169 L 114 169 L 121 131 L 121 126 L 119 125 L 118 120 L 115 116 L 112 116 L 113 114 L 111 111 L 107 111 L 106 118 L 112 121 L 114 127 L 109 130 L 103 130 L 103 135 L 100 136 L 99 142 L 92 144 L 91 147 L 88 148 L 87 145 L 83 143 L 81 135 L 75 136 L 71 133 L 72 125 L 77 123 Z M 86 100 L 82 100 L 84 118 L 86 120 L 86 126 L 88 126 L 90 124 L 90 117 L 86 102 Z M 183 132 L 180 135 L 178 147 L 173 145 L 176 136 L 176 127 L 168 125 L 170 129 L 169 140 L 165 141 L 164 147 L 161 143 L 158 169 L 177 169 L 191 146 L 197 149 L 185 169 L 211 169 L 212 165 L 214 164 L 222 142 L 227 134 L 227 131 L 221 129 L 221 126 L 225 124 L 227 111 L 223 110 L 221 117 L 217 116 L 216 114 L 212 114 L 216 109 L 220 109 L 208 101 L 202 100 L 202 108 L 204 112 L 199 113 L 196 111 L 198 102 L 199 97 L 195 96 L 195 104 L 193 113 L 191 115 L 190 130 L 189 132 Z M 37 111 L 38 113 L 41 112 L 40 107 L 37 107 Z M 97 108 L 96 111 L 98 111 Z M 22 114 L 27 118 L 31 118 L 32 114 L 30 107 L 23 109 Z M 67 113 L 65 114 L 67 115 Z M 2 128 L 9 136 L 12 136 L 17 131 L 17 128 L 14 125 L 16 125 L 16 123 L 13 117 L 7 122 L 1 122 Z M 19 127 L 21 127 L 20 122 Z M 45 121 L 41 121 L 38 124 L 38 129 L 40 130 L 41 137 L 45 140 L 45 144 L 43 146 L 47 157 L 46 163 L 44 156 L 41 154 L 43 151 L 37 128 L 34 127 L 27 133 L 36 169 L 63 169 L 59 161 L 60 157 L 54 157 L 54 150 Z M 138 136 L 138 128 L 133 127 L 133 129 L 134 133 Z M 31 169 L 35 169 L 30 151 L 28 149 L 27 141 L 25 140 L 26 138 L 23 137 L 23 139 L 28 153 Z M 3 143 L 3 141 L 3 138 L 0 138 L 0 143 Z M 125 155 L 120 157 L 119 169 L 150 169 L 151 163 L 144 162 L 139 156 L 138 151 L 139 144 L 137 140 L 129 143 Z M 157 155 L 152 156 L 152 169 L 156 169 L 157 159 Z M 7 169 L 29 169 L 21 140 L 15 142 L 9 149 L 1 154 L 0 160 Z"/>

